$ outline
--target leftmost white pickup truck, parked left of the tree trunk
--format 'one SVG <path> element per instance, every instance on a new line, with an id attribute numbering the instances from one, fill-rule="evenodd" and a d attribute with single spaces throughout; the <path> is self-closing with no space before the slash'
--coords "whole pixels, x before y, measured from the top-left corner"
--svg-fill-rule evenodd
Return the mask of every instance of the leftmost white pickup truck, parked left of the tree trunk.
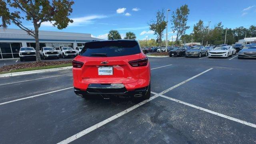
<path id="1" fill-rule="evenodd" d="M 36 50 L 33 47 L 21 47 L 20 52 L 20 61 L 22 62 L 24 59 L 33 58 L 36 60 Z"/>

